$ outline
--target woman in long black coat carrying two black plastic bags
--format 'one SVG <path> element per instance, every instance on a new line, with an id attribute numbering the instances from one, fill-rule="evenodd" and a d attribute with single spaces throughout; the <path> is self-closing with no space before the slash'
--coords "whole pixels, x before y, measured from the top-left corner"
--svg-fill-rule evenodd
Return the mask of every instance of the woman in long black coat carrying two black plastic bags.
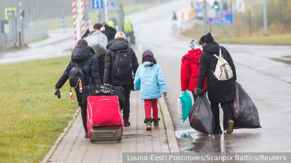
<path id="1" fill-rule="evenodd" d="M 219 121 L 219 107 L 218 107 L 220 103 L 226 117 L 226 122 L 228 123 L 226 133 L 231 134 L 233 132 L 233 121 L 230 101 L 233 100 L 234 82 L 237 80 L 233 60 L 228 51 L 226 50 L 226 48 L 223 46 L 219 46 L 219 44 L 214 41 L 213 37 L 211 36 L 211 33 L 202 36 L 199 41 L 199 44 L 202 45 L 203 47 L 203 53 L 200 56 L 199 78 L 195 94 L 196 95 L 203 94 L 202 89 L 205 82 L 205 78 L 207 78 L 206 82 L 208 98 L 215 119 L 215 127 L 213 133 L 222 133 Z M 220 49 L 223 58 L 227 61 L 233 72 L 233 77 L 227 81 L 219 81 L 211 72 L 212 70 L 213 71 L 215 70 L 218 61 L 213 54 L 219 56 Z"/>

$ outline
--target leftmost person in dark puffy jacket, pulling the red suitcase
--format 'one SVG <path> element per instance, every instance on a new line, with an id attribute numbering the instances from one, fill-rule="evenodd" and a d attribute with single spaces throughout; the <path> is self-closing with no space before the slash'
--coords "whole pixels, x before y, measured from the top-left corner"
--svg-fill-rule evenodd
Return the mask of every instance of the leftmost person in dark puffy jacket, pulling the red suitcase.
<path id="1" fill-rule="evenodd" d="M 55 85 L 55 89 L 61 89 L 62 86 L 65 84 L 65 82 L 69 79 L 69 71 L 75 67 L 75 63 L 80 64 L 83 74 L 85 77 L 87 77 L 88 85 L 93 84 L 101 84 L 100 76 L 99 76 L 99 68 L 98 68 L 98 60 L 92 47 L 88 46 L 88 43 L 86 40 L 79 40 L 78 45 L 74 48 L 71 56 L 71 61 L 67 68 L 65 69 L 63 75 L 59 79 L 59 81 Z M 77 95 L 77 100 L 79 103 L 79 106 L 81 107 L 81 115 L 82 115 L 82 121 L 85 129 L 85 137 L 88 138 L 88 130 L 87 130 L 87 110 L 86 108 L 83 108 L 82 105 L 82 94 L 79 91 L 79 86 L 75 88 L 75 92 Z"/>

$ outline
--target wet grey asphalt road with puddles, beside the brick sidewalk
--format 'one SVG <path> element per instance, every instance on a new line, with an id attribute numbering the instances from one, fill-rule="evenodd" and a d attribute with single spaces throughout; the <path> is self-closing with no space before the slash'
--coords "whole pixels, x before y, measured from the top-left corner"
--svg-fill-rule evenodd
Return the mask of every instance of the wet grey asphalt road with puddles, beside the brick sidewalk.
<path id="1" fill-rule="evenodd" d="M 171 29 L 172 12 L 185 11 L 186 1 L 165 3 L 130 18 L 136 37 L 133 46 L 139 62 L 144 50 L 150 49 L 161 65 L 168 86 L 166 101 L 182 152 L 291 152 L 291 65 L 270 58 L 291 55 L 291 46 L 223 44 L 231 54 L 238 82 L 251 96 L 259 110 L 262 128 L 238 129 L 233 134 L 208 136 L 193 130 L 188 119 L 178 119 L 177 100 L 180 90 L 180 60 L 191 41 Z M 57 31 L 58 33 L 60 31 Z M 202 34 L 201 34 L 202 35 Z M 56 35 L 51 35 L 55 37 Z M 219 42 L 218 42 L 219 43 Z M 37 45 L 37 44 L 34 44 Z M 71 54 L 72 40 L 23 51 L 0 54 L 0 65 Z M 189 92 L 190 93 L 190 92 Z M 191 95 L 191 93 L 190 93 Z M 221 109 L 222 119 L 222 109 Z M 161 116 L 161 115 L 160 115 Z M 222 122 L 221 122 L 222 127 Z"/>

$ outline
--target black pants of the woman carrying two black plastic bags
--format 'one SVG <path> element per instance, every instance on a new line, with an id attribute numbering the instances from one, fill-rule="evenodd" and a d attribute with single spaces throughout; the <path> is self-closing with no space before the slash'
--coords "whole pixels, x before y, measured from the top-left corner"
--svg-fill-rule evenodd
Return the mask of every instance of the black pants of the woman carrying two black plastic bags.
<path id="1" fill-rule="evenodd" d="M 218 102 L 210 102 L 211 110 L 213 112 L 214 119 L 215 119 L 214 131 L 221 130 L 220 121 L 219 121 L 219 106 L 218 105 L 219 105 Z M 223 109 L 223 112 L 225 114 L 226 121 L 228 119 L 232 119 L 230 101 L 227 101 L 225 103 L 220 103 L 220 105 L 221 105 L 221 108 Z"/>

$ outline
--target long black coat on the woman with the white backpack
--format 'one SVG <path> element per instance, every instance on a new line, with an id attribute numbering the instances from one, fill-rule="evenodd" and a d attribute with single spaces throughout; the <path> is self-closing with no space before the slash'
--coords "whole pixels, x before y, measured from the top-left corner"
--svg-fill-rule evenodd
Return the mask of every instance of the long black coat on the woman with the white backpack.
<path id="1" fill-rule="evenodd" d="M 219 48 L 223 58 L 230 65 L 233 77 L 227 81 L 219 81 L 210 71 L 215 70 L 217 58 L 213 55 L 219 56 Z M 216 42 L 211 42 L 203 46 L 203 53 L 200 56 L 200 68 L 198 88 L 203 89 L 205 78 L 207 78 L 207 92 L 208 98 L 211 102 L 226 102 L 233 100 L 234 96 L 234 82 L 236 81 L 236 71 L 232 58 L 225 47 L 219 46 Z"/>

